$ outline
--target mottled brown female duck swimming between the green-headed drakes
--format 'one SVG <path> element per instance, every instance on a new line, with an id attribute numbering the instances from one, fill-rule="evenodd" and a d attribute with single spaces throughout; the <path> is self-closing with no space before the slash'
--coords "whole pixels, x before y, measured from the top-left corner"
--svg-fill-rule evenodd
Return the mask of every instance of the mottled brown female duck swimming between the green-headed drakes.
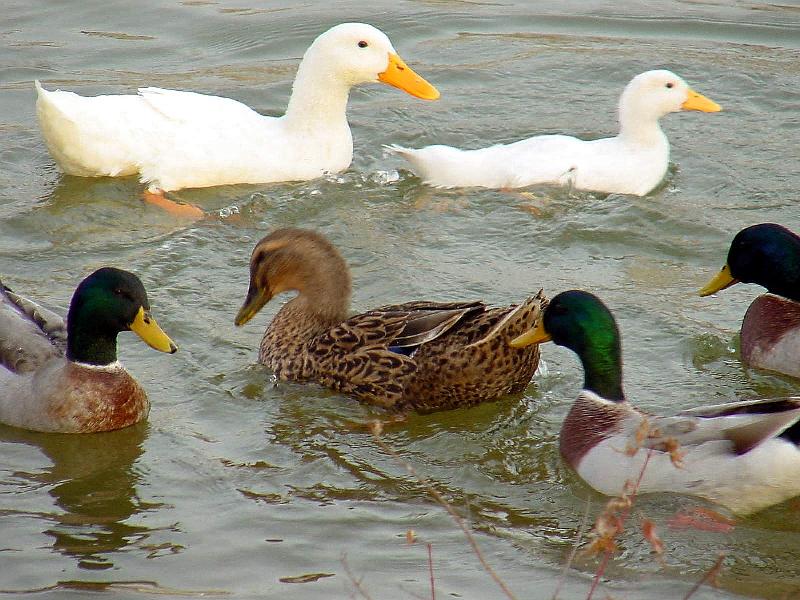
<path id="1" fill-rule="evenodd" d="M 279 379 L 431 412 L 520 392 L 539 363 L 536 346 L 508 342 L 536 324 L 541 291 L 519 306 L 420 301 L 348 317 L 350 274 L 336 248 L 313 231 L 279 229 L 253 250 L 236 325 L 289 290 L 298 295 L 273 318 L 258 357 Z"/>

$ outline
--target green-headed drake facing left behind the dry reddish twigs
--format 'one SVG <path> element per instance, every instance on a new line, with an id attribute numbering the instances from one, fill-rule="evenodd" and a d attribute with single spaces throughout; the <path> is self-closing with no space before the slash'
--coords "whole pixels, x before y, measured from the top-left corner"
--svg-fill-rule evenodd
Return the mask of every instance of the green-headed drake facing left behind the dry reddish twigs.
<path id="1" fill-rule="evenodd" d="M 583 390 L 561 428 L 561 455 L 599 492 L 622 493 L 647 460 L 641 493 L 700 496 L 739 514 L 800 494 L 800 398 L 645 415 L 622 391 L 614 317 L 588 292 L 553 298 L 538 326 L 511 345 L 550 340 L 574 351 L 584 371 Z"/>

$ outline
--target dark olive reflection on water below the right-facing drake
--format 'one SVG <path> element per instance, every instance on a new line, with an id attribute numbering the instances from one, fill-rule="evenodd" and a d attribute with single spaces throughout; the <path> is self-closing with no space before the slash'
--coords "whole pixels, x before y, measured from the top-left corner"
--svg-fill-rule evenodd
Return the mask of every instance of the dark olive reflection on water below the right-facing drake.
<path id="1" fill-rule="evenodd" d="M 39 514 L 53 548 L 74 557 L 80 568 L 110 569 L 113 555 L 141 546 L 150 530 L 127 521 L 161 504 L 144 502 L 137 487 L 136 462 L 143 452 L 147 424 L 85 435 L 37 434 L 3 427 L 0 441 L 41 450 L 52 466 L 15 476 L 44 484 L 63 512 Z"/>

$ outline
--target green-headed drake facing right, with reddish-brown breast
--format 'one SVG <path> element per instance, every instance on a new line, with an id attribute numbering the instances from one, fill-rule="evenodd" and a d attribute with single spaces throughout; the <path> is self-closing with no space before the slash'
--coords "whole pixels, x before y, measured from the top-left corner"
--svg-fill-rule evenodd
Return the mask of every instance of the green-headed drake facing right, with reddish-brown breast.
<path id="1" fill-rule="evenodd" d="M 66 325 L 0 284 L 0 422 L 89 433 L 146 418 L 147 395 L 117 361 L 117 334 L 128 330 L 156 350 L 177 350 L 133 273 L 104 267 L 89 275 L 72 296 Z"/>

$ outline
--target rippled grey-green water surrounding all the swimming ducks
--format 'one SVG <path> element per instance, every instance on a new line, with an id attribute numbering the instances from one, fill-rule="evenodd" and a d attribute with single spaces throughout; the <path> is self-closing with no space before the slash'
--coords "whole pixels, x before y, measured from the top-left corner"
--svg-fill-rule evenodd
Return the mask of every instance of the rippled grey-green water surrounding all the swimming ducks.
<path id="1" fill-rule="evenodd" d="M 218 215 L 186 225 L 144 206 L 133 178 L 61 176 L 39 136 L 34 79 L 88 95 L 194 90 L 280 113 L 305 48 L 345 20 L 386 31 L 442 98 L 354 90 L 355 158 L 337 177 L 182 191 Z M 253 244 L 272 228 L 328 235 L 351 265 L 355 309 L 592 290 L 617 315 L 627 393 L 647 410 L 797 392 L 738 360 L 756 288 L 694 293 L 743 226 L 798 228 L 794 3 L 11 0 L 1 22 L 0 275 L 62 310 L 93 269 L 131 269 L 180 345 L 165 357 L 120 337 L 120 357 L 153 403 L 147 423 L 80 437 L 0 427 L 9 597 L 350 598 L 363 597 L 359 580 L 375 599 L 429 598 L 428 542 L 437 598 L 501 597 L 425 486 L 367 432 L 379 411 L 313 385 L 275 385 L 256 364 L 280 303 L 244 328 L 233 317 Z M 676 71 L 724 111 L 664 120 L 672 167 L 646 198 L 432 190 L 381 150 L 609 135 L 620 91 L 651 68 Z M 591 514 L 603 503 L 557 454 L 579 365 L 553 345 L 543 357 L 521 397 L 413 416 L 383 435 L 468 516 L 518 598 L 552 595 L 587 499 Z M 598 597 L 681 598 L 720 553 L 722 591 L 694 598 L 796 593 L 796 504 L 728 534 L 666 527 L 697 504 L 641 499 Z M 638 532 L 639 513 L 659 525 L 665 566 Z M 586 597 L 596 567 L 579 558 L 561 597 Z M 280 581 L 307 573 L 333 576 Z"/>

